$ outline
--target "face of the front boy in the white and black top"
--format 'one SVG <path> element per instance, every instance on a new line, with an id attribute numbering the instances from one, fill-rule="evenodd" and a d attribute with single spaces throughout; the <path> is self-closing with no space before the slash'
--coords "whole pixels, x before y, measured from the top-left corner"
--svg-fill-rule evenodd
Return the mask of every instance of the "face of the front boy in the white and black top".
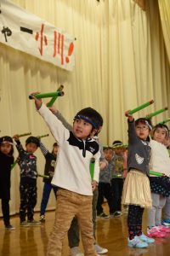
<path id="1" fill-rule="evenodd" d="M 75 119 L 73 123 L 73 133 L 80 139 L 87 139 L 92 132 L 93 126 L 82 119 Z"/>

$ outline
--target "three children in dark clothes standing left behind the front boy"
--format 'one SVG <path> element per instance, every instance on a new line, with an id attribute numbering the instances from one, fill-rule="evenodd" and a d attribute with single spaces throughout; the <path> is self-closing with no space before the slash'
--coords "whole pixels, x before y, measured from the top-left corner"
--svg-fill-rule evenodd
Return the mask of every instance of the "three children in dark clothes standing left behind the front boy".
<path id="1" fill-rule="evenodd" d="M 14 141 L 13 141 L 14 139 Z M 3 222 L 7 230 L 14 230 L 9 220 L 9 200 L 10 200 L 10 175 L 14 164 L 14 144 L 19 152 L 17 162 L 20 166 L 20 226 L 41 224 L 45 220 L 45 210 L 51 189 L 54 189 L 56 196 L 57 187 L 52 186 L 51 180 L 54 175 L 58 143 L 54 143 L 52 153 L 42 144 L 38 137 L 28 137 L 26 139 L 26 150 L 20 143 L 18 135 L 14 137 L 4 136 L 0 138 L 0 198 L 2 199 Z M 36 221 L 34 207 L 37 204 L 37 157 L 34 154 L 40 147 L 46 159 L 43 178 L 44 187 L 42 193 L 40 221 Z M 27 217 L 27 219 L 26 219 Z"/>

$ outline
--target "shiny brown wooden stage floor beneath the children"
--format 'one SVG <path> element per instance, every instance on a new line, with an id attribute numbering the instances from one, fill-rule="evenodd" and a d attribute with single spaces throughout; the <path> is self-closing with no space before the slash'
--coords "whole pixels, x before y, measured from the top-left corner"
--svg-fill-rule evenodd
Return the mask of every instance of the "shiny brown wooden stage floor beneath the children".
<path id="1" fill-rule="evenodd" d="M 144 219 L 145 215 L 146 213 L 144 213 Z M 38 216 L 39 214 L 36 213 L 35 218 L 38 219 Z M 3 220 L 0 219 L 0 256 L 45 255 L 48 235 L 54 224 L 54 212 L 47 212 L 45 224 L 37 227 L 20 228 L 18 216 L 12 217 L 11 223 L 15 226 L 15 230 L 4 230 Z M 156 242 L 148 248 L 127 247 L 126 223 L 126 214 L 123 214 L 121 218 L 97 220 L 97 241 L 100 246 L 109 250 L 105 256 L 170 255 L 170 234 L 165 239 L 156 239 Z M 63 256 L 68 256 L 67 237 L 65 237 L 64 245 Z M 80 247 L 82 248 L 82 244 Z"/>

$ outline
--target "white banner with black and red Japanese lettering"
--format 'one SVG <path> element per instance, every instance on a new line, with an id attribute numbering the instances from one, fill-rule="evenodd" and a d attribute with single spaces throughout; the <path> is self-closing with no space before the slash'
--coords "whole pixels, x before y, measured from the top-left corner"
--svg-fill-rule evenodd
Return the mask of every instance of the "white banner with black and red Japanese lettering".
<path id="1" fill-rule="evenodd" d="M 7 0 L 0 0 L 0 42 L 72 70 L 74 38 Z"/>

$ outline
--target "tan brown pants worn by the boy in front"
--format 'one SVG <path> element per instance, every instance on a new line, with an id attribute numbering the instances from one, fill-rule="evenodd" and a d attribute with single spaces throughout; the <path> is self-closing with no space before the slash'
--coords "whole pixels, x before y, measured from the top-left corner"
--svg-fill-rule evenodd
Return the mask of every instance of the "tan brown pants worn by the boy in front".
<path id="1" fill-rule="evenodd" d="M 71 226 L 72 218 L 77 216 L 81 229 L 85 256 L 96 256 L 94 250 L 92 196 L 79 195 L 66 189 L 57 192 L 57 206 L 54 228 L 48 239 L 47 256 L 61 256 L 62 243 Z"/>

